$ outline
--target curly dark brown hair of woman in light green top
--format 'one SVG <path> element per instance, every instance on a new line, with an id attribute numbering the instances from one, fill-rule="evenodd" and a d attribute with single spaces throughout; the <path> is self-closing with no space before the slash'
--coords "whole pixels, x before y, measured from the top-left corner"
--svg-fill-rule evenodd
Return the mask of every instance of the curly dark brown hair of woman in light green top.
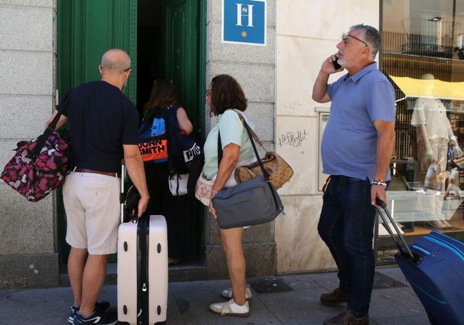
<path id="1" fill-rule="evenodd" d="M 218 116 L 227 109 L 246 110 L 246 98 L 236 79 L 228 74 L 219 74 L 211 80 L 210 114 Z"/>

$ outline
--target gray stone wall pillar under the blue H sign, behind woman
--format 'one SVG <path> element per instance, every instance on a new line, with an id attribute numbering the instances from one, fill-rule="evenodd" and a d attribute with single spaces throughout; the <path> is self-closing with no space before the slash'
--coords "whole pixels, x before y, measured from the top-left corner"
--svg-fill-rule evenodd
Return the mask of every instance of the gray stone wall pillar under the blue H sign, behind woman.
<path id="1" fill-rule="evenodd" d="M 275 13 L 274 0 L 266 1 L 266 46 L 224 44 L 221 42 L 221 3 L 208 0 L 206 26 L 206 86 L 213 76 L 230 74 L 243 87 L 248 99 L 246 116 L 256 125 L 256 133 L 266 148 L 273 149 L 275 129 Z M 206 131 L 216 124 L 209 119 L 206 106 Z M 227 276 L 226 259 L 218 237 L 216 221 L 206 214 L 206 274 L 208 279 Z M 276 272 L 276 245 L 273 223 L 245 230 L 243 250 L 246 255 L 247 276 Z"/>

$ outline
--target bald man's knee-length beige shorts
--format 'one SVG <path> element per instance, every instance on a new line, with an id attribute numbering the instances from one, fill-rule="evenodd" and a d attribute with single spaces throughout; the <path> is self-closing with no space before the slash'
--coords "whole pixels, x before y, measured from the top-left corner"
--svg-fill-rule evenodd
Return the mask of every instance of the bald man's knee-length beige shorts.
<path id="1" fill-rule="evenodd" d="M 101 174 L 77 173 L 66 176 L 63 187 L 68 226 L 66 242 L 89 254 L 116 253 L 121 219 L 120 179 Z"/>

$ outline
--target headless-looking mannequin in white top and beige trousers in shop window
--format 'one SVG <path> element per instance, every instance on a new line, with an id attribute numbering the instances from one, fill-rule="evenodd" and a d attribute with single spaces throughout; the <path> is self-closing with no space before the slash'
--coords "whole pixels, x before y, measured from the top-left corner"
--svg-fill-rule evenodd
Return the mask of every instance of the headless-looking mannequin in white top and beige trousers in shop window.
<path id="1" fill-rule="evenodd" d="M 428 224 L 438 229 L 450 228 L 445 221 L 441 209 L 443 200 L 441 191 L 444 189 L 445 180 L 448 176 L 446 171 L 446 161 L 448 154 L 448 142 L 451 141 L 455 156 L 462 156 L 463 151 L 458 144 L 458 138 L 453 134 L 450 120 L 446 116 L 446 108 L 440 99 L 433 97 L 433 86 L 435 77 L 433 74 L 424 74 L 420 79 L 423 83 L 423 96 L 416 99 L 414 103 L 413 117 L 411 125 L 417 126 L 420 136 L 425 146 L 425 157 L 428 162 L 428 171 L 425 176 L 423 189 L 418 190 L 419 194 L 427 194 L 430 179 L 435 174 L 435 184 L 437 196 L 434 207 L 435 216 L 428 220 Z"/>

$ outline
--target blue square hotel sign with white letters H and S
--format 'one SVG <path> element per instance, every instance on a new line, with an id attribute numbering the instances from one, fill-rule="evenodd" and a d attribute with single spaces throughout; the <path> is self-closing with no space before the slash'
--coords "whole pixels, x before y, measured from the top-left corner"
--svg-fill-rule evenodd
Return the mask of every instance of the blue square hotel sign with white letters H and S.
<path id="1" fill-rule="evenodd" d="M 266 46 L 266 0 L 223 0 L 222 41 Z"/>

